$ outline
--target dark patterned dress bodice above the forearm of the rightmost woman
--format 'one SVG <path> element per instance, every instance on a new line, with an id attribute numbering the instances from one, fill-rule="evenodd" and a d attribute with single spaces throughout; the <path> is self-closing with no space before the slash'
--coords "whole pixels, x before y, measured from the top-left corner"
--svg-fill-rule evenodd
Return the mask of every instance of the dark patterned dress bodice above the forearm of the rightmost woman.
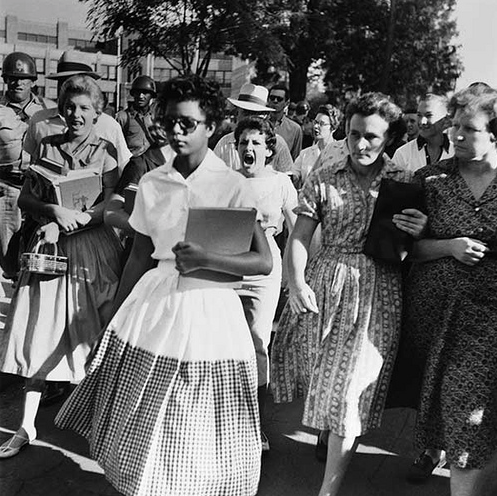
<path id="1" fill-rule="evenodd" d="M 477 200 L 452 157 L 416 172 L 423 185 L 428 209 L 425 237 L 451 239 L 468 236 L 497 249 L 497 178 Z"/>

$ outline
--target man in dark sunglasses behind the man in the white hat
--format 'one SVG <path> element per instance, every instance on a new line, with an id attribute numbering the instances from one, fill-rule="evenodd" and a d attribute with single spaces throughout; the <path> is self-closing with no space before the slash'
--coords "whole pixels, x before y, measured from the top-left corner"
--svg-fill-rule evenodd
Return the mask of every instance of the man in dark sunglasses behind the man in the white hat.
<path id="1" fill-rule="evenodd" d="M 285 109 L 290 103 L 290 92 L 284 84 L 275 84 L 269 90 L 268 106 L 273 109 L 269 116 L 274 124 L 274 130 L 288 145 L 292 159 L 295 160 L 302 150 L 302 129 L 292 119 L 285 115 Z"/>

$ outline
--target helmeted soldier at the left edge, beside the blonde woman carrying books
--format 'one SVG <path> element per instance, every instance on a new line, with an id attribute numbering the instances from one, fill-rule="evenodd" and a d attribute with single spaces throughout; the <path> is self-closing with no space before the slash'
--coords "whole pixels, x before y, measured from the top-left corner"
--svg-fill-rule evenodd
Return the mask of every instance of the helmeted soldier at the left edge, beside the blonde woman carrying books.
<path id="1" fill-rule="evenodd" d="M 6 91 L 0 98 L 0 266 L 8 278 L 15 277 L 17 244 L 13 236 L 21 227 L 17 206 L 23 181 L 23 169 L 29 156 L 23 154 L 28 122 L 41 109 L 55 107 L 55 102 L 33 93 L 37 79 L 36 63 L 23 52 L 13 52 L 2 64 Z"/>

